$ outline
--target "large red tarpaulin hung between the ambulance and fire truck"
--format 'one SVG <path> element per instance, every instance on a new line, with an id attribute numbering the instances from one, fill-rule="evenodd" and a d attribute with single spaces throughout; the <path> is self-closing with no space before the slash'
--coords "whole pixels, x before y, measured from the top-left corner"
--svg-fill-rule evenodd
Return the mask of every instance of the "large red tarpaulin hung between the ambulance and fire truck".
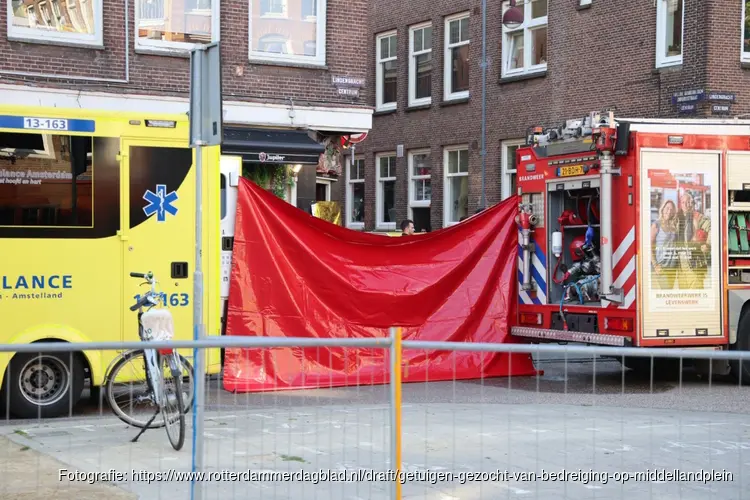
<path id="1" fill-rule="evenodd" d="M 510 342 L 516 197 L 427 234 L 388 237 L 312 217 L 241 179 L 227 335 Z M 510 358 L 510 359 L 509 359 Z M 403 353 L 404 382 L 534 375 L 529 355 Z M 385 349 L 227 349 L 224 388 L 383 384 Z"/>

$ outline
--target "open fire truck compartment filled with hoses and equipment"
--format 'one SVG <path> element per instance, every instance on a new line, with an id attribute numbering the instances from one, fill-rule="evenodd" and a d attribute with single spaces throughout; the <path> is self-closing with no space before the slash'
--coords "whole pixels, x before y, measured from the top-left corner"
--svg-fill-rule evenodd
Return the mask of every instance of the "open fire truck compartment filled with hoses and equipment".
<path id="1" fill-rule="evenodd" d="M 601 306 L 599 200 L 599 177 L 556 179 L 547 184 L 550 304 L 563 300 L 564 305 Z"/>

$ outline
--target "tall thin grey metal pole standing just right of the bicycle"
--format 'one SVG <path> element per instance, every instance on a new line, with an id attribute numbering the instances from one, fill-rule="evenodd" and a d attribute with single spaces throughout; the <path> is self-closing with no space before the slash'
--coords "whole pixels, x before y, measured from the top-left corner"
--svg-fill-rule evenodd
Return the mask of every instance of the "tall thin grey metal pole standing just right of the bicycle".
<path id="1" fill-rule="evenodd" d="M 199 104 L 196 109 L 201 110 L 201 116 L 193 116 L 191 120 L 203 123 L 201 84 L 203 83 L 203 54 L 197 55 L 199 64 L 199 78 L 195 79 L 195 98 Z M 193 272 L 193 340 L 203 336 L 203 138 L 196 141 L 195 147 L 195 271 Z M 201 348 L 193 348 L 195 361 L 194 394 L 193 394 L 193 471 L 203 471 L 203 409 L 205 407 L 205 352 Z M 203 498 L 203 484 L 196 482 L 193 476 L 191 500 Z"/>

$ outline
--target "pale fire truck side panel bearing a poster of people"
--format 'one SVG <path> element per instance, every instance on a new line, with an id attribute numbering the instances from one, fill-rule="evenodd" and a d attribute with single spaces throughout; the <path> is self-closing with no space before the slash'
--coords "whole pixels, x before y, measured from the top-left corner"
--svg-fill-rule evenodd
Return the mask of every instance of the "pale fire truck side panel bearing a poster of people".
<path id="1" fill-rule="evenodd" d="M 720 157 L 642 155 L 643 335 L 720 335 Z"/>

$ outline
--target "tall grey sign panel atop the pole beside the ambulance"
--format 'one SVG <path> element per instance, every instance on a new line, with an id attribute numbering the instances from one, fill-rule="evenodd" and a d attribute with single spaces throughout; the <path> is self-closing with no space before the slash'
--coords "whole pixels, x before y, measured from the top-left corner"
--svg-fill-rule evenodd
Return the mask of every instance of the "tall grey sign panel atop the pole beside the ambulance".
<path id="1" fill-rule="evenodd" d="M 221 144 L 220 54 L 219 42 L 190 51 L 190 147 Z"/>

